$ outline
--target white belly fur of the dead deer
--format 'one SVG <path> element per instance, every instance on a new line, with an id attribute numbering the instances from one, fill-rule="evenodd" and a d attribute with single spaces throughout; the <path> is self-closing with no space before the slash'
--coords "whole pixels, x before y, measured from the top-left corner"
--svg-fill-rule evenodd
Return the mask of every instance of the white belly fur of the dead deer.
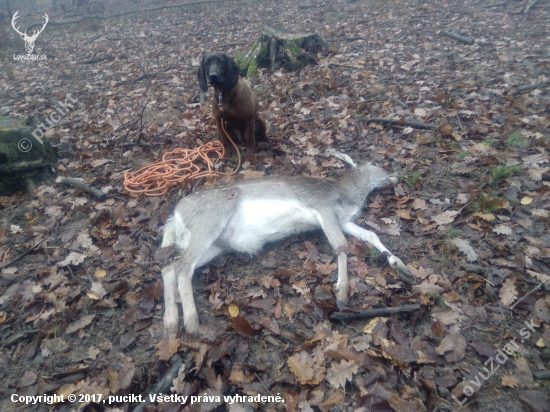
<path id="1" fill-rule="evenodd" d="M 267 242 L 320 228 L 321 216 L 295 200 L 245 200 L 224 230 L 221 247 L 255 253 Z"/>

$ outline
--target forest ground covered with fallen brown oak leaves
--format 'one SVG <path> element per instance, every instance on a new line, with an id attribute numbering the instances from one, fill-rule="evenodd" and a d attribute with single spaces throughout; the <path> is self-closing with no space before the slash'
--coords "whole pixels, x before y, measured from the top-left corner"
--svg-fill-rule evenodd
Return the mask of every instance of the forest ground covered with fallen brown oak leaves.
<path id="1" fill-rule="evenodd" d="M 144 410 L 550 411 L 548 2 L 105 1 L 82 21 L 85 7 L 31 3 L 12 11 L 30 10 L 26 24 L 49 14 L 34 51 L 47 60 L 13 60 L 23 42 L 3 15 L 0 108 L 39 124 L 77 99 L 45 133 L 51 173 L 107 198 L 54 181 L 0 197 L 0 410 L 133 411 L 164 380 L 186 401 Z M 216 140 L 201 56 L 246 53 L 266 25 L 327 46 L 299 72 L 247 80 L 268 124 L 256 162 L 130 195 L 125 172 Z M 332 149 L 400 174 L 357 223 L 416 278 L 405 285 L 387 256 L 348 238 L 349 311 L 420 309 L 331 319 L 337 260 L 307 233 L 197 269 L 200 337 L 166 339 L 160 274 L 178 254 L 159 244 L 177 199 L 263 175 L 338 179 Z M 77 400 L 21 401 L 54 394 Z"/>

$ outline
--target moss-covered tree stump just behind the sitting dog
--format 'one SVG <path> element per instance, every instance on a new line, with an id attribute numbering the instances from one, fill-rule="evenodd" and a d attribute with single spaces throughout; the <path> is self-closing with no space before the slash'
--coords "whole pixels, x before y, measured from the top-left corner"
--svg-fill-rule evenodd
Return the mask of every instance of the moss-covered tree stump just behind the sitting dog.
<path id="1" fill-rule="evenodd" d="M 282 28 L 267 26 L 260 38 L 245 55 L 236 56 L 241 75 L 253 77 L 259 67 L 274 71 L 277 66 L 288 71 L 316 64 L 317 53 L 326 46 L 315 33 L 289 33 Z"/>

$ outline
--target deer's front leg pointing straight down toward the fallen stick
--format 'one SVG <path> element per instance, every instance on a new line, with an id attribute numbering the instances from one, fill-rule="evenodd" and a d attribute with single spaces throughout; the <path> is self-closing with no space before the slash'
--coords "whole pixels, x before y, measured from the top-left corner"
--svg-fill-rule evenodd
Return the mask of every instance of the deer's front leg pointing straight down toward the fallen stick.
<path id="1" fill-rule="evenodd" d="M 332 213 L 321 214 L 321 227 L 325 232 L 330 245 L 338 255 L 338 281 L 336 282 L 336 304 L 338 307 L 346 307 L 349 300 L 349 282 L 348 282 L 348 256 L 345 252 L 347 241 L 338 218 Z"/>

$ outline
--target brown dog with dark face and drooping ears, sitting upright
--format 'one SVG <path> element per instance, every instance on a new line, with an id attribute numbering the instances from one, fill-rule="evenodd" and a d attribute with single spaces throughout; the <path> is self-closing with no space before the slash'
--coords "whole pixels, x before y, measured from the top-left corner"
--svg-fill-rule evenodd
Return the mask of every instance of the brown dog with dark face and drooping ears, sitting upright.
<path id="1" fill-rule="evenodd" d="M 246 157 L 254 160 L 256 137 L 266 137 L 265 120 L 258 112 L 256 94 L 239 77 L 239 66 L 223 53 L 208 53 L 202 58 L 198 76 L 203 91 L 208 90 L 208 83 L 214 87 L 212 113 L 216 118 L 218 135 L 223 146 L 227 150 L 229 141 L 222 131 L 220 106 L 223 109 L 223 120 L 245 136 Z"/>

